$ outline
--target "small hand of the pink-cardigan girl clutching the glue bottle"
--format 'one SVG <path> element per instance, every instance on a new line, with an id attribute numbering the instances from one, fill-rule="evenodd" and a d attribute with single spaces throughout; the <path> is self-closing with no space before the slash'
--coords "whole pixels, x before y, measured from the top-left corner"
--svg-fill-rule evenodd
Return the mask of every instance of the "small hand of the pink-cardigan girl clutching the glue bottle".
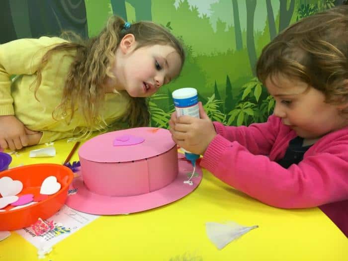
<path id="1" fill-rule="evenodd" d="M 212 121 L 199 102 L 200 119 L 191 116 L 176 117 L 175 112 L 169 121 L 174 142 L 187 151 L 203 154 L 216 136 Z M 175 114 L 175 115 L 174 115 Z"/>

